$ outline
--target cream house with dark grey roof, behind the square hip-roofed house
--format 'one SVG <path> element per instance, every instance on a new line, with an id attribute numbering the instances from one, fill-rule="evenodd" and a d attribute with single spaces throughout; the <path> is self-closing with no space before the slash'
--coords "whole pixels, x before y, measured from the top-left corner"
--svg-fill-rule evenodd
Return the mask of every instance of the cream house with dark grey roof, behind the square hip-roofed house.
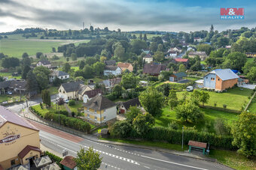
<path id="1" fill-rule="evenodd" d="M 88 85 L 84 85 L 84 82 L 66 82 L 59 86 L 59 97 L 63 99 L 78 99 L 83 100 L 85 91 L 93 90 Z"/>

